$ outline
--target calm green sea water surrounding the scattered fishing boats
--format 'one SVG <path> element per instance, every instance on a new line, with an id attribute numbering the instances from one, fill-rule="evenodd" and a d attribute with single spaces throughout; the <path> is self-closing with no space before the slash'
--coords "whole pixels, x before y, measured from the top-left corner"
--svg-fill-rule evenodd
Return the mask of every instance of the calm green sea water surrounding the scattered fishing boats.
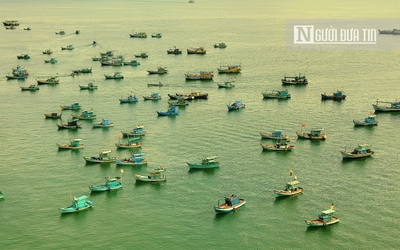
<path id="1" fill-rule="evenodd" d="M 381 113 L 379 125 L 355 128 L 376 99 L 394 101 L 398 94 L 399 51 L 287 51 L 286 20 L 300 18 L 398 18 L 396 1 L 2 1 L 0 16 L 18 20 L 15 30 L 0 29 L 0 141 L 2 171 L 0 233 L 2 249 L 397 249 L 400 198 L 397 140 L 400 116 Z M 4 21 L 2 20 L 2 21 Z M 30 27 L 27 31 L 24 28 Z M 400 28 L 400 23 L 393 27 Z M 64 30 L 65 35 L 55 32 Z M 79 30 L 80 34 L 75 34 Z M 147 32 L 133 39 L 132 32 Z M 162 33 L 162 38 L 151 38 Z M 390 36 L 398 43 L 400 36 Z M 92 42 L 97 41 L 93 46 Z M 227 48 L 213 44 L 225 42 Z M 61 47 L 73 44 L 73 51 Z M 203 46 L 207 54 L 167 55 L 176 46 L 184 52 Z M 52 49 L 52 56 L 42 51 Z M 92 61 L 100 52 L 114 51 L 140 66 L 107 67 Z M 18 60 L 28 53 L 31 58 Z M 57 58 L 56 64 L 44 59 Z M 240 63 L 234 89 L 218 89 L 232 76 L 215 74 L 209 82 L 186 82 L 188 71 L 214 71 L 220 64 Z M 5 75 L 22 65 L 25 81 Z M 166 75 L 147 70 L 168 68 Z M 92 74 L 71 77 L 72 70 L 92 68 Z M 123 80 L 105 80 L 120 71 Z M 306 73 L 307 86 L 288 86 L 292 98 L 263 100 L 265 90 L 282 88 L 283 75 Z M 59 75 L 60 84 L 40 85 L 36 92 L 19 86 Z M 95 80 L 98 90 L 78 85 Z M 162 82 L 163 87 L 148 87 Z M 321 101 L 321 93 L 343 89 L 342 102 Z M 138 103 L 120 104 L 133 91 Z M 157 117 L 168 108 L 168 94 L 200 91 L 196 100 L 176 117 Z M 159 92 L 160 101 L 142 96 Z M 246 108 L 228 112 L 226 105 L 242 99 Z M 60 120 L 44 113 L 60 112 L 60 105 L 79 102 L 84 109 L 108 118 L 115 126 L 92 129 L 82 121 L 78 131 L 58 130 Z M 63 122 L 76 112 L 64 111 Z M 306 127 L 301 127 L 301 124 Z M 142 138 L 148 165 L 123 167 L 124 187 L 90 194 L 89 185 L 105 176 L 120 175 L 115 164 L 87 165 L 84 156 L 117 150 L 121 131 L 144 125 Z M 324 128 L 326 141 L 297 140 L 295 132 Z M 295 146 L 290 153 L 263 152 L 259 132 L 284 129 Z M 60 151 L 57 142 L 81 138 L 85 148 Z M 375 154 L 368 159 L 342 161 L 339 150 L 368 143 Z M 187 162 L 217 155 L 218 169 L 189 171 Z M 133 173 L 146 174 L 164 166 L 167 182 L 136 183 Z M 276 200 L 289 170 L 304 193 Z M 217 216 L 213 206 L 232 193 L 246 198 L 238 211 Z M 88 195 L 93 208 L 61 216 L 58 208 L 71 196 Z M 334 203 L 340 222 L 307 230 Z"/>

